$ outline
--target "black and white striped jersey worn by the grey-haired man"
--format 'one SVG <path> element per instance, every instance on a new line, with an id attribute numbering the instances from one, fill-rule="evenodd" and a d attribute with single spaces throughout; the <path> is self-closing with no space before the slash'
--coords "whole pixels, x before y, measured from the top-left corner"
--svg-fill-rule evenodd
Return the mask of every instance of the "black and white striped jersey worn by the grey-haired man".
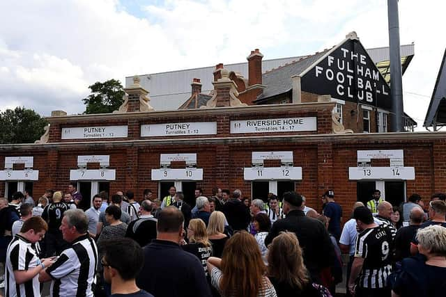
<path id="1" fill-rule="evenodd" d="M 98 267 L 98 248 L 88 234 L 72 242 L 72 246 L 61 253 L 47 273 L 53 278 L 52 297 L 92 297 L 92 284 Z"/>

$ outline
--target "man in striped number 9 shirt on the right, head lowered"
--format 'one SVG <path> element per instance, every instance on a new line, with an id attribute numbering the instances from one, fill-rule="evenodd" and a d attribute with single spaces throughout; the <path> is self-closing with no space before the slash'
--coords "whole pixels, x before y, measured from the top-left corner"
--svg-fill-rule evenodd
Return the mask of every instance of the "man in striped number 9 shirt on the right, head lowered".
<path id="1" fill-rule="evenodd" d="M 392 234 L 387 227 L 374 223 L 367 207 L 357 207 L 353 217 L 360 234 L 356 239 L 348 289 L 357 297 L 390 297 L 390 289 L 386 285 L 392 272 Z"/>

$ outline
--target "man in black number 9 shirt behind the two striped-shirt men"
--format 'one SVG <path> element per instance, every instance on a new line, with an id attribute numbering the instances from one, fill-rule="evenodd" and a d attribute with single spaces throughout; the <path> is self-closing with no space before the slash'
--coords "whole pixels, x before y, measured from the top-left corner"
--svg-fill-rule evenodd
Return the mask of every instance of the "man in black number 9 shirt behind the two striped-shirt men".
<path id="1" fill-rule="evenodd" d="M 55 192 L 53 202 L 43 209 L 42 218 L 48 224 L 48 232 L 44 239 L 46 257 L 59 255 L 68 246 L 68 243 L 63 240 L 62 232 L 59 228 L 61 227 L 63 213 L 70 207 L 61 200 L 62 192 Z"/>

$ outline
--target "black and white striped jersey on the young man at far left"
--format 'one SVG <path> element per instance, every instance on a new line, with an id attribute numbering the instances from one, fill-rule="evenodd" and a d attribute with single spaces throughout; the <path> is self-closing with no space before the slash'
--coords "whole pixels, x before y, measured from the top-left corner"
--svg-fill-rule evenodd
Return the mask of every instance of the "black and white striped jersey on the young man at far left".
<path id="1" fill-rule="evenodd" d="M 40 297 L 38 274 L 23 284 L 17 284 L 14 277 L 14 271 L 27 271 L 38 264 L 40 260 L 36 250 L 33 249 L 33 244 L 20 234 L 15 235 L 6 251 L 5 296 Z"/>

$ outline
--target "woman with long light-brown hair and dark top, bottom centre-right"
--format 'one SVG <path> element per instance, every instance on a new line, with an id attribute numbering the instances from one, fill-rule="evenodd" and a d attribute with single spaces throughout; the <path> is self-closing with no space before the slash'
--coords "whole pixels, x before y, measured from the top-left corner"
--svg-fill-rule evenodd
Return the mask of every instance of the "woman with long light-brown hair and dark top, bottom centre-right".
<path id="1" fill-rule="evenodd" d="M 312 285 L 304 265 L 302 249 L 293 232 L 281 232 L 268 246 L 268 278 L 277 297 L 321 296 Z"/>

